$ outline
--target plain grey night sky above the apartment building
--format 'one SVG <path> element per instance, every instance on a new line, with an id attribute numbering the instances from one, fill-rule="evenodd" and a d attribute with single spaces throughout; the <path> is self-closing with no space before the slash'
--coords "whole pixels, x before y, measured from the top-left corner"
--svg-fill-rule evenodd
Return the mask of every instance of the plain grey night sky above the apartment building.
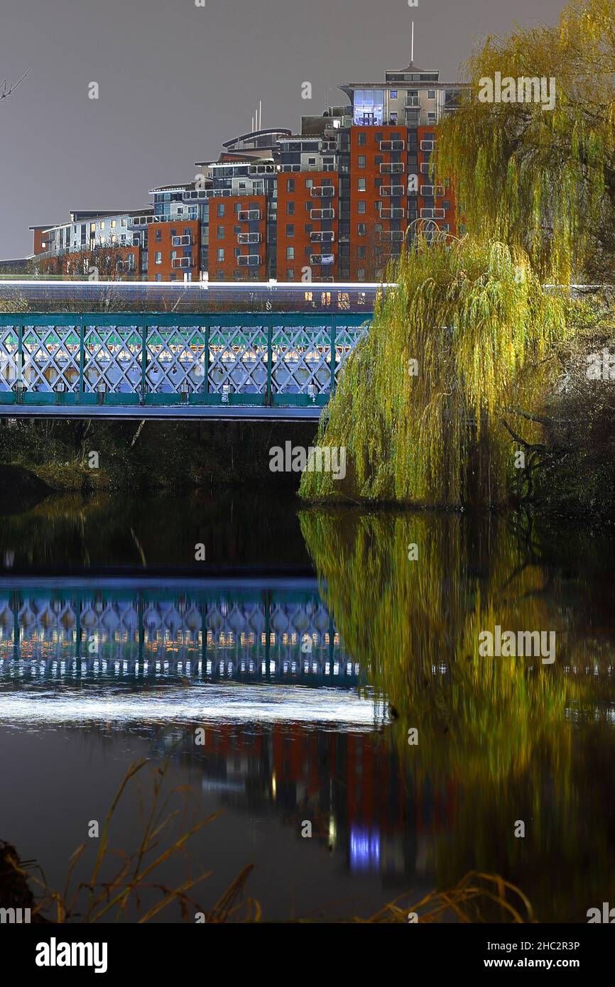
<path id="1" fill-rule="evenodd" d="M 299 128 L 344 103 L 341 82 L 415 61 L 457 77 L 473 40 L 554 23 L 565 0 L 1 0 L 0 258 L 32 253 L 29 226 L 70 209 L 133 209 L 192 181 L 194 161 L 251 127 Z M 311 101 L 301 98 L 312 84 Z M 100 98 L 88 98 L 98 82 Z"/>

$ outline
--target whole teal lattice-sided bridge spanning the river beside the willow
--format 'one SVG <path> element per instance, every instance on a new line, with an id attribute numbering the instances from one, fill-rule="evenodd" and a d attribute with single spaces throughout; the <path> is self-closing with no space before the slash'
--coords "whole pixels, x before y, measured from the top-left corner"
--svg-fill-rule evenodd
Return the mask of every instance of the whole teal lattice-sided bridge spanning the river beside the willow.
<path id="1" fill-rule="evenodd" d="M 21 288 L 27 302 L 33 287 L 41 299 L 33 282 Z M 50 294 L 65 299 L 65 285 L 54 287 Z M 87 303 L 92 292 L 79 287 Z M 143 308 L 159 302 L 161 286 L 148 287 L 156 294 L 136 302 L 120 294 L 123 311 L 0 313 L 0 417 L 319 418 L 375 298 L 373 286 L 293 285 L 279 298 L 269 285 L 243 286 L 242 295 L 234 285 L 222 302 L 200 290 L 200 311 L 150 312 Z M 181 290 L 178 301 L 188 287 Z M 219 311 L 229 304 L 237 310 Z"/>

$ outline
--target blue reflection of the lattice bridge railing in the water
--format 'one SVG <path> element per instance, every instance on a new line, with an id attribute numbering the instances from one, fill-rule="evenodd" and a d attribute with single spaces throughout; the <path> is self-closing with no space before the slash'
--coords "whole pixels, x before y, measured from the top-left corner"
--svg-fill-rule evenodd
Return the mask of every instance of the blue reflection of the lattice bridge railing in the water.
<path id="1" fill-rule="evenodd" d="M 354 685 L 358 666 L 317 594 L 198 591 L 0 595 L 5 674 L 198 675 Z"/>

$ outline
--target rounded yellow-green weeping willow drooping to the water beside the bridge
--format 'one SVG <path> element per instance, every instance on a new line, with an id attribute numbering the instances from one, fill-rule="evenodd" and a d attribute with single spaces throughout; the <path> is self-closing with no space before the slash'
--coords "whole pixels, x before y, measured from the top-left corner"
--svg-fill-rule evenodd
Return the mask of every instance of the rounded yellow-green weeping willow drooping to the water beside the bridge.
<path id="1" fill-rule="evenodd" d="M 554 344 L 575 331 L 577 306 L 545 293 L 520 249 L 470 238 L 420 240 L 390 276 L 319 430 L 320 445 L 346 448 L 346 477 L 305 472 L 300 493 L 503 502 L 516 453 L 544 427 Z"/>

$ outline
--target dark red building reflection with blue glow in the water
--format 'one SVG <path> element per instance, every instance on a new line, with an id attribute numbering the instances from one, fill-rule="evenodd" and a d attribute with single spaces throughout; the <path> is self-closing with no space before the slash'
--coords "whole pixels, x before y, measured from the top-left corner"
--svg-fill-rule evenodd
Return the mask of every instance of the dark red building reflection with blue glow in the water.
<path id="1" fill-rule="evenodd" d="M 197 753 L 185 734 L 178 756 L 199 765 L 203 790 L 225 804 L 278 812 L 297 835 L 309 819 L 348 870 L 400 886 L 432 869 L 431 834 L 454 825 L 454 783 L 419 782 L 374 733 L 220 723 Z"/>

